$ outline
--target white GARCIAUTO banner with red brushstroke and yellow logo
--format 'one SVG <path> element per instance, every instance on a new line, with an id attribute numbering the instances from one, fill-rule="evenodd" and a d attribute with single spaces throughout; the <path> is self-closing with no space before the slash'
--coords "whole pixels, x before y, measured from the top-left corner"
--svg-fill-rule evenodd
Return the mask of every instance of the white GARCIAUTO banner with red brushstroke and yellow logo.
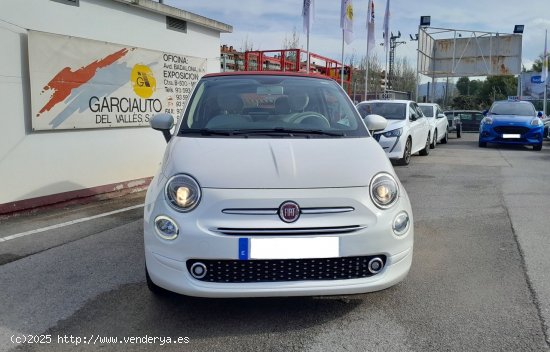
<path id="1" fill-rule="evenodd" d="M 29 31 L 33 130 L 147 126 L 179 117 L 206 59 Z"/>

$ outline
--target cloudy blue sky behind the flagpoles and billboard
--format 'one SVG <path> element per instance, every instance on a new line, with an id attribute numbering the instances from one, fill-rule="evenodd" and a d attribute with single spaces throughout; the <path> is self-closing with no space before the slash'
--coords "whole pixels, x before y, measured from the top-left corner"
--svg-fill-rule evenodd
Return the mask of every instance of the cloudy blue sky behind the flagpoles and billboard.
<path id="1" fill-rule="evenodd" d="M 374 0 L 375 39 L 383 42 L 383 21 L 387 0 Z M 525 25 L 522 64 L 527 69 L 544 52 L 545 30 L 550 29 L 550 0 L 388 0 L 390 31 L 401 32 L 399 41 L 406 44 L 396 49 L 397 58 L 407 58 L 416 68 L 417 42 L 409 34 L 418 32 L 420 16 L 431 16 L 431 27 L 468 31 L 512 33 L 515 24 Z M 310 33 L 310 51 L 341 61 L 342 30 L 339 0 L 314 0 L 315 20 Z M 306 48 L 303 31 L 303 0 L 164 0 L 180 8 L 233 26 L 233 33 L 222 33 L 221 43 L 237 50 L 245 41 L 256 50 L 282 48 L 285 38 L 296 31 Z M 353 55 L 366 55 L 368 0 L 353 0 L 353 42 L 344 47 L 344 61 Z M 452 34 L 451 34 L 452 35 Z M 550 49 L 549 49 L 550 50 Z M 375 54 L 385 57 L 384 48 L 376 45 Z"/>

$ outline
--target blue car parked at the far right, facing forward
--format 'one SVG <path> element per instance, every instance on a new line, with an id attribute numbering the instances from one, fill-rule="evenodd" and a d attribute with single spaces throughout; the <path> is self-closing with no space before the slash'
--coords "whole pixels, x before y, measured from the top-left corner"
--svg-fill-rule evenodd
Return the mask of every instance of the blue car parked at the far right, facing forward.
<path id="1" fill-rule="evenodd" d="M 495 101 L 479 126 L 479 146 L 487 143 L 532 145 L 542 149 L 544 123 L 528 101 Z"/>

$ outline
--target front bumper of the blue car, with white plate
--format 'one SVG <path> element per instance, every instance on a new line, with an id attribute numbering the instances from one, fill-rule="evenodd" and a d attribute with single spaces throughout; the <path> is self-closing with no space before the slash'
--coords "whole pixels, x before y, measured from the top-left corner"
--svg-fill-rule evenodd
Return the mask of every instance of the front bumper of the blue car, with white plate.
<path id="1" fill-rule="evenodd" d="M 544 126 L 483 125 L 479 132 L 482 143 L 539 145 L 542 143 Z"/>

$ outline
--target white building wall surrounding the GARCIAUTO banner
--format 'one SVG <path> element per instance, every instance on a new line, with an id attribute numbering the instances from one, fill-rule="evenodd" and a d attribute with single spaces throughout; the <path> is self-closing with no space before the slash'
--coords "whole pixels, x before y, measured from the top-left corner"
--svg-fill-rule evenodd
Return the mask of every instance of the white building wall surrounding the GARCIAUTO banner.
<path id="1" fill-rule="evenodd" d="M 112 0 L 0 0 L 0 205 L 151 177 L 166 145 L 147 127 L 32 132 L 27 30 L 208 59 L 219 71 L 220 32 Z"/>

